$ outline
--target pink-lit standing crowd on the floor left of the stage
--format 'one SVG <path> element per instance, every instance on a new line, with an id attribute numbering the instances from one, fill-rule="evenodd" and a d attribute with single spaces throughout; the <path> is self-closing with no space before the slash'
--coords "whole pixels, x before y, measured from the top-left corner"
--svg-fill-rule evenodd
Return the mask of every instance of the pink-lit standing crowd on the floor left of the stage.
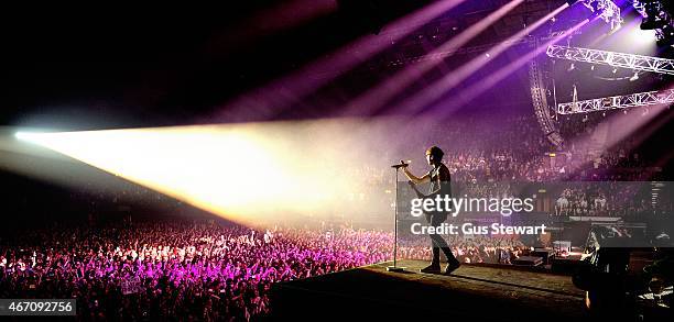
<path id="1" fill-rule="evenodd" d="M 392 234 L 215 223 L 31 231 L 0 246 L 0 297 L 77 298 L 85 320 L 248 320 L 273 282 L 387 260 Z M 153 320 L 154 320 L 153 319 Z"/>

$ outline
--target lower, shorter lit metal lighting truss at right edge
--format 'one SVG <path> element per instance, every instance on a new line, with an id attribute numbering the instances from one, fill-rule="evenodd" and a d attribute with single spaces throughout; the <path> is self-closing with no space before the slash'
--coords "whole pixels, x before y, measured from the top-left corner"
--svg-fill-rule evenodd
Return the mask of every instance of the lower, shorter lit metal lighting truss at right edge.
<path id="1" fill-rule="evenodd" d="M 674 102 L 674 89 L 638 92 L 626 96 L 612 96 L 591 100 L 559 103 L 557 113 L 578 114 L 615 109 L 649 107 Z"/>

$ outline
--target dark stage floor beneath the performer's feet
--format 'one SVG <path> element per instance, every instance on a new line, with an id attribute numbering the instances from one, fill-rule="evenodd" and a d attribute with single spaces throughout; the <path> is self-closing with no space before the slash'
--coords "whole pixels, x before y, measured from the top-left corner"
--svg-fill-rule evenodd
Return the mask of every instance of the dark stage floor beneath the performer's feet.
<path id="1" fill-rule="evenodd" d="M 584 317 L 585 292 L 569 276 L 463 265 L 449 276 L 417 273 L 427 265 L 400 260 L 405 273 L 381 263 L 276 284 L 278 319 L 457 318 L 475 321 L 561 321 Z"/>

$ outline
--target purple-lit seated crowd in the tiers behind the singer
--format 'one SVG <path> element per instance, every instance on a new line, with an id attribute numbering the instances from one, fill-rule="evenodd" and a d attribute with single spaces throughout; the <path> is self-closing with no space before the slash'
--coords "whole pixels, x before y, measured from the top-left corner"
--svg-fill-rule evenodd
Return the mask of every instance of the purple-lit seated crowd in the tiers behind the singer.
<path id="1" fill-rule="evenodd" d="M 594 121 L 574 118 L 559 122 L 565 141 L 555 146 L 533 115 L 467 118 L 424 129 L 398 153 L 422 154 L 431 145 L 441 146 L 453 180 L 463 182 L 637 181 L 657 176 L 634 140 L 610 145 L 593 138 L 600 120 Z"/>

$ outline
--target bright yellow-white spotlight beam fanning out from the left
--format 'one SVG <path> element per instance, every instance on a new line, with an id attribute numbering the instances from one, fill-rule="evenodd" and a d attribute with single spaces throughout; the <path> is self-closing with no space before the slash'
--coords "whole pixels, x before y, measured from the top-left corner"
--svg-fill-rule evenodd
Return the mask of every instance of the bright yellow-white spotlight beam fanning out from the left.
<path id="1" fill-rule="evenodd" d="M 336 131 L 329 129 L 295 122 L 15 136 L 250 223 L 338 207 L 337 197 L 349 193 L 349 184 L 335 170 L 347 166 L 340 164 L 345 147 L 334 143 Z"/>

